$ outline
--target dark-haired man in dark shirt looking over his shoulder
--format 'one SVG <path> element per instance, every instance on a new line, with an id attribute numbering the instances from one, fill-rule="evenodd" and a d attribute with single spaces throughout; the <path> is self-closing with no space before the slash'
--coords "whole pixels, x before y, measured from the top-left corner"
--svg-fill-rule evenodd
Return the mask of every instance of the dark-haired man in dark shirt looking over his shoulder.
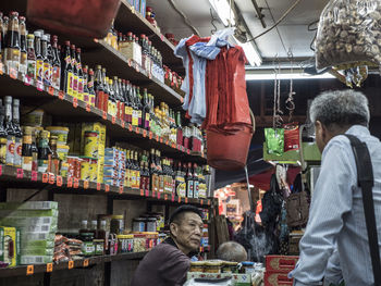
<path id="1" fill-rule="evenodd" d="M 202 227 L 202 219 L 196 207 L 177 208 L 170 217 L 171 237 L 146 254 L 131 285 L 183 285 L 190 266 L 190 257 L 199 249 Z"/>

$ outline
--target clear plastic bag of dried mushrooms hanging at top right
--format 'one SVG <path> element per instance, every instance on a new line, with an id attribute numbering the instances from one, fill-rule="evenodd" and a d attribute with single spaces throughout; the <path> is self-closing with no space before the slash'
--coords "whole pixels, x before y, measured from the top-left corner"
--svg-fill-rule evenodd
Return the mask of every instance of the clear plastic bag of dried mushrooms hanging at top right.
<path id="1" fill-rule="evenodd" d="M 380 24 L 381 0 L 331 0 L 320 16 L 317 69 L 381 65 Z"/>

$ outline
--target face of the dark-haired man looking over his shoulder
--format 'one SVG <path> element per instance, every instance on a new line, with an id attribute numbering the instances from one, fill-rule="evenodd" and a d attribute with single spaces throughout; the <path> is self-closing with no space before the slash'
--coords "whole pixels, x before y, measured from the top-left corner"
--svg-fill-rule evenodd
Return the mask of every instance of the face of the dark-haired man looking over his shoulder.
<path id="1" fill-rule="evenodd" d="M 174 240 L 185 252 L 197 251 L 200 246 L 204 223 L 194 212 L 185 212 L 171 224 Z"/>

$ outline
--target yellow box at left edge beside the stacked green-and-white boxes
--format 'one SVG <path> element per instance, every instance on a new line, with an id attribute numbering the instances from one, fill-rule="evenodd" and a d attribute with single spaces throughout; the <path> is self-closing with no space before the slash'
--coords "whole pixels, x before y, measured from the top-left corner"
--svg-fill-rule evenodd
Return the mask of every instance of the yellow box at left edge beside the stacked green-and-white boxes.
<path id="1" fill-rule="evenodd" d="M 20 264 L 21 236 L 15 227 L 0 226 L 0 261 L 9 266 Z"/>

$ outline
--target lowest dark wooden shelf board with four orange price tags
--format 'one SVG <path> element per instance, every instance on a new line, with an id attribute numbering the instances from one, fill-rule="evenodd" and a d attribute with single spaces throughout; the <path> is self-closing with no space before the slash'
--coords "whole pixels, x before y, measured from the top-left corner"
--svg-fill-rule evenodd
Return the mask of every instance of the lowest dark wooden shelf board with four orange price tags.
<path id="1" fill-rule="evenodd" d="M 4 278 L 11 276 L 30 276 L 37 273 L 50 273 L 60 270 L 86 269 L 91 265 L 100 264 L 103 262 L 112 262 L 116 260 L 138 260 L 143 259 L 147 253 L 148 251 L 135 253 L 121 253 L 115 256 L 99 256 L 73 260 L 72 262 L 67 261 L 59 263 L 32 264 L 15 268 L 7 268 L 0 269 L 0 277 Z"/>

